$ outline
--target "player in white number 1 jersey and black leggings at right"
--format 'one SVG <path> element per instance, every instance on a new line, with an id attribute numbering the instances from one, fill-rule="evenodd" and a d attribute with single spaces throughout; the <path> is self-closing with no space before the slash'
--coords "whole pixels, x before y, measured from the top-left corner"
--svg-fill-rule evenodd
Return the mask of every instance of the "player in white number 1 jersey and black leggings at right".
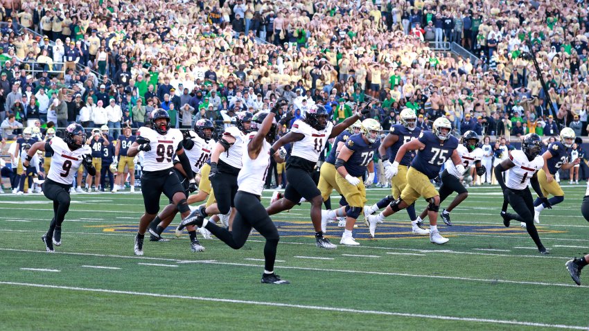
<path id="1" fill-rule="evenodd" d="M 503 190 L 504 204 L 501 211 L 503 224 L 509 227 L 509 221 L 517 220 L 526 224 L 526 230 L 541 254 L 548 251 L 540 242 L 540 236 L 534 226 L 534 199 L 529 192 L 528 184 L 534 188 L 538 198 L 546 208 L 552 208 L 547 197 L 540 189 L 537 172 L 544 166 L 544 159 L 540 155 L 542 141 L 538 134 L 527 134 L 522 139 L 522 149 L 513 150 L 509 159 L 503 160 L 495 167 L 495 177 Z M 503 182 L 503 172 L 509 170 L 506 183 Z M 516 214 L 507 213 L 507 204 Z"/>

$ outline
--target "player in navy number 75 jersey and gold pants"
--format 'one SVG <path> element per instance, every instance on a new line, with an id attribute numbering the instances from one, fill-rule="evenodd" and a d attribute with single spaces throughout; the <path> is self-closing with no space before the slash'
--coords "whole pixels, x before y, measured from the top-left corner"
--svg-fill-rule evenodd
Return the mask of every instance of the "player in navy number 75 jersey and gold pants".
<path id="1" fill-rule="evenodd" d="M 448 238 L 443 238 L 437 229 L 440 196 L 431 179 L 439 175 L 441 166 L 448 158 L 452 159 L 458 173 L 464 173 L 464 165 L 461 164 L 460 156 L 456 152 L 458 139 L 450 135 L 451 130 L 452 124 L 448 118 L 437 118 L 432 125 L 432 131 L 422 131 L 419 138 L 404 143 L 399 148 L 391 165 L 392 168 L 389 168 L 389 174 L 392 177 L 398 174 L 399 162 L 408 151 L 419 150 L 419 152 L 411 162 L 411 168 L 407 170 L 407 186 L 403 188 L 401 197 L 391 202 L 380 214 L 369 215 L 364 221 L 372 237 L 374 237 L 376 225 L 382 223 L 385 217 L 411 206 L 416 199 L 423 197 L 429 203 L 430 242 L 434 244 L 448 242 Z"/>

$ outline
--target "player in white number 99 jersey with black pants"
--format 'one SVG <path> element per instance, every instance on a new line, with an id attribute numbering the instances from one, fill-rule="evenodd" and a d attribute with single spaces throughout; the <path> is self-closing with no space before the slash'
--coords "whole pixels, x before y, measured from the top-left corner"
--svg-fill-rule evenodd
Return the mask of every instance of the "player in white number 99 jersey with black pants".
<path id="1" fill-rule="evenodd" d="M 159 198 L 164 193 L 170 199 L 182 215 L 182 219 L 190 214 L 190 208 L 186 203 L 184 188 L 174 169 L 174 153 L 178 156 L 180 164 L 188 181 L 188 190 L 196 190 L 196 181 L 192 176 L 192 168 L 184 147 L 182 146 L 182 132 L 179 129 L 170 129 L 170 116 L 164 109 L 155 109 L 151 113 L 152 129 L 141 127 L 137 130 L 137 140 L 132 143 L 127 155 L 134 157 L 143 151 L 143 173 L 141 175 L 141 194 L 146 211 L 139 221 L 139 230 L 135 236 L 134 253 L 143 255 L 143 238 L 150 222 L 159 211 Z"/>

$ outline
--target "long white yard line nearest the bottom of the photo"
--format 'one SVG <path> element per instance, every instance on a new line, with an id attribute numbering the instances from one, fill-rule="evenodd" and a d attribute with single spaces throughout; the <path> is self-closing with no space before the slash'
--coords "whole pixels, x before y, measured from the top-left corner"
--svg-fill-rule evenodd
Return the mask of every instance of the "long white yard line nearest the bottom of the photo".
<path id="1" fill-rule="evenodd" d="M 343 307 L 294 305 L 291 303 L 276 303 L 276 302 L 268 302 L 268 301 L 249 301 L 249 300 L 236 300 L 236 299 L 224 299 L 224 298 L 206 298 L 203 296 L 179 296 L 179 295 L 174 295 L 174 294 L 120 291 L 120 290 L 116 290 L 116 289 L 91 289 L 91 288 L 85 288 L 85 287 L 70 287 L 70 286 L 33 284 L 33 283 L 0 282 L 0 284 L 2 284 L 2 285 L 15 285 L 15 286 L 28 286 L 28 287 L 42 287 L 42 288 L 50 288 L 50 289 L 67 289 L 67 290 L 71 290 L 71 291 L 80 291 L 80 292 L 126 294 L 126 295 L 132 295 L 132 296 L 151 296 L 151 297 L 156 297 L 156 298 L 179 298 L 179 299 L 195 300 L 195 301 L 240 303 L 240 304 L 245 304 L 245 305 L 264 305 L 264 306 L 270 306 L 270 307 L 288 307 L 288 308 L 299 308 L 299 309 L 305 309 L 305 310 L 325 310 L 325 311 L 331 311 L 331 312 L 349 312 L 349 313 L 355 313 L 355 314 L 401 316 L 401 317 L 410 317 L 410 318 L 418 318 L 418 319 L 425 318 L 425 319 L 439 319 L 439 320 L 446 320 L 446 321 L 465 321 L 465 322 L 475 322 L 475 323 L 525 325 L 525 326 L 536 326 L 539 328 L 560 328 L 560 329 L 570 329 L 570 330 L 587 330 L 587 327 L 577 326 L 577 325 L 545 324 L 545 323 L 525 322 L 525 321 L 503 321 L 503 320 L 498 320 L 498 319 L 477 319 L 474 317 L 411 314 L 411 313 L 404 313 L 404 312 L 387 312 L 387 311 L 379 311 L 379 310 L 356 310 L 356 309 L 343 308 Z"/>

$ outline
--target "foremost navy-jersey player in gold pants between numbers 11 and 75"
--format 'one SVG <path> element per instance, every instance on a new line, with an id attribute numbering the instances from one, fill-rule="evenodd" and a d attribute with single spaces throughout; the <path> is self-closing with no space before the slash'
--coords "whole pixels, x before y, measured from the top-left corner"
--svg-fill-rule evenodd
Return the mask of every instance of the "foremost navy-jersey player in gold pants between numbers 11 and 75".
<path id="1" fill-rule="evenodd" d="M 378 135 L 382 129 L 377 120 L 372 118 L 363 120 L 360 129 L 361 133 L 348 138 L 337 155 L 335 182 L 342 195 L 344 195 L 348 206 L 341 207 L 336 211 L 322 211 L 322 231 L 326 231 L 326 220 L 328 218 L 335 217 L 338 212 L 340 215 L 346 215 L 346 228 L 340 244 L 346 246 L 359 245 L 352 236 L 352 230 L 358 216 L 362 213 L 362 206 L 367 202 L 364 186 L 369 185 L 374 180 L 372 156 L 380 145 Z M 368 170 L 369 175 L 366 181 L 362 181 L 362 176 L 364 176 L 366 170 Z"/>

